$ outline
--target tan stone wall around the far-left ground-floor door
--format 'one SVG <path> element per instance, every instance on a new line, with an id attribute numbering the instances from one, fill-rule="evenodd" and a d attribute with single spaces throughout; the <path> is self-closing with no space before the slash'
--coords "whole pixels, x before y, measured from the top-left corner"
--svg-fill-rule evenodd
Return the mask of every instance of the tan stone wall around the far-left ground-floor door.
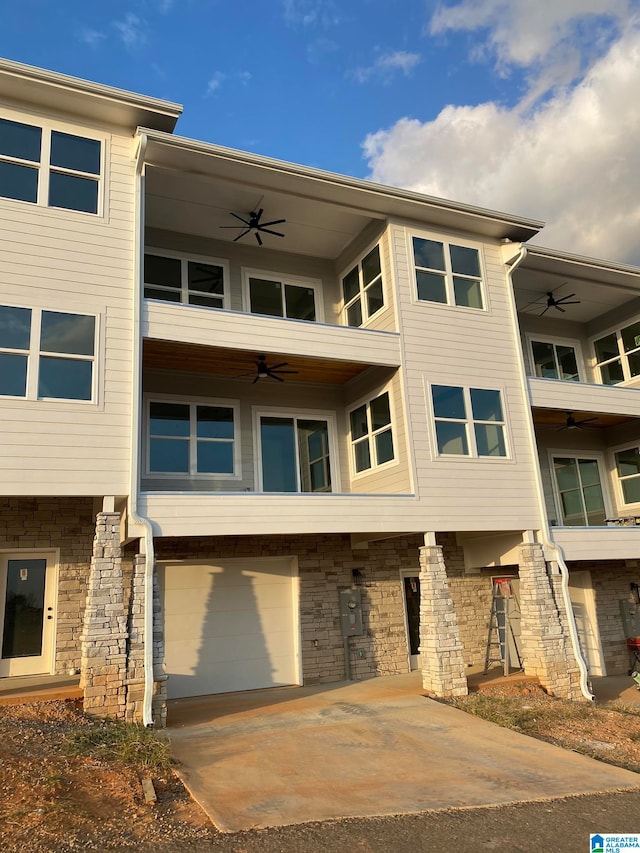
<path id="1" fill-rule="evenodd" d="M 95 519 L 91 498 L 0 498 L 0 548 L 59 549 L 54 671 L 80 668 Z"/>

